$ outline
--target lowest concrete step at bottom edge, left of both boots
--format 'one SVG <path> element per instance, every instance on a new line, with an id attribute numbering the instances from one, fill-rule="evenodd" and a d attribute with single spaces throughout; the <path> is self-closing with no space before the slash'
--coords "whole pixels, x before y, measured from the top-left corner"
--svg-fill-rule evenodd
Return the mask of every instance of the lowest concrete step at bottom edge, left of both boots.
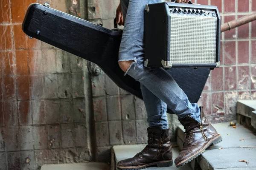
<path id="1" fill-rule="evenodd" d="M 41 170 L 110 170 L 107 163 L 88 162 L 80 164 L 45 164 Z"/>

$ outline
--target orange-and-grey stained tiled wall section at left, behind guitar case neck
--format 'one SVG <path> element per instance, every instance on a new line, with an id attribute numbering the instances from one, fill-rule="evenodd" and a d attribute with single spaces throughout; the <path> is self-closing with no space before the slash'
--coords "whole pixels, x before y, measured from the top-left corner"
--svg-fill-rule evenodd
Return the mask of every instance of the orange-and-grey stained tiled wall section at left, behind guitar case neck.
<path id="1" fill-rule="evenodd" d="M 86 61 L 23 33 L 25 11 L 34 2 L 45 3 L 0 3 L 1 170 L 35 170 L 93 157 Z M 65 0 L 49 3 L 60 11 L 71 12 L 71 6 L 79 11 L 74 0 L 67 6 Z"/>

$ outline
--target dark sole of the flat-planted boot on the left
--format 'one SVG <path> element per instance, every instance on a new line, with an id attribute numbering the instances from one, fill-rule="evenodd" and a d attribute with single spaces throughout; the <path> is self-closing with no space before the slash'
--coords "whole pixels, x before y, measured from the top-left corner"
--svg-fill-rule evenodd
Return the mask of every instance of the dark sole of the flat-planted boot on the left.
<path id="1" fill-rule="evenodd" d="M 141 166 L 133 166 L 133 167 L 119 167 L 116 166 L 117 169 L 119 170 L 141 170 L 141 169 L 145 169 L 146 167 L 152 166 L 152 165 L 157 165 L 157 167 L 171 167 L 173 164 L 173 160 L 169 160 L 169 161 L 158 161 L 158 162 L 154 162 L 151 164 L 145 164 L 145 165 L 141 165 Z"/>

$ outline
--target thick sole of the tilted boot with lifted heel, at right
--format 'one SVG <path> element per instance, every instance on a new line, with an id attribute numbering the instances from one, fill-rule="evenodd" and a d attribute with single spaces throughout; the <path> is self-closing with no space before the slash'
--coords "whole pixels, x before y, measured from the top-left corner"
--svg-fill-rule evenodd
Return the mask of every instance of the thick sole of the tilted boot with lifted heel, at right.
<path id="1" fill-rule="evenodd" d="M 215 138 L 211 139 L 208 144 L 206 144 L 204 147 L 202 147 L 201 150 L 198 150 L 198 152 L 194 153 L 192 156 L 190 156 L 189 158 L 181 161 L 180 163 L 178 163 L 176 165 L 176 167 L 182 167 L 183 165 L 189 163 L 190 161 L 192 161 L 193 159 L 195 159 L 196 157 L 200 156 L 202 153 L 204 153 L 204 151 L 211 145 L 216 145 L 218 143 L 220 143 L 222 141 L 222 137 L 220 134 L 218 134 L 218 136 L 216 136 Z"/>

